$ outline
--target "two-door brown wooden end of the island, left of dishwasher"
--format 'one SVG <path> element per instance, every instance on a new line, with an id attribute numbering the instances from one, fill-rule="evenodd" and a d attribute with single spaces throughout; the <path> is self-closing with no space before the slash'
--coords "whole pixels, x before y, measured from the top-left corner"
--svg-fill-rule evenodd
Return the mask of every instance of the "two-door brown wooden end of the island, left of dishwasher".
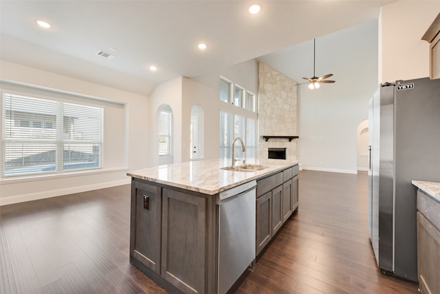
<path id="1" fill-rule="evenodd" d="M 214 293 L 214 197 L 137 179 L 131 187 L 130 262 L 168 291 Z"/>

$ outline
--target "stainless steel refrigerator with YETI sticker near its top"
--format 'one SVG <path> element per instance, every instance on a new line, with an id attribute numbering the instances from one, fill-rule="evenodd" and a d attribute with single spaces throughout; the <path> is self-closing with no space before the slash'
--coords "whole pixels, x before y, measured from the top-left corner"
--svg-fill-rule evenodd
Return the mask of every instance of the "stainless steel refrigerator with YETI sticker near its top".
<path id="1" fill-rule="evenodd" d="M 369 110 L 369 231 L 383 273 L 417 282 L 416 189 L 440 181 L 440 79 L 380 85 Z"/>

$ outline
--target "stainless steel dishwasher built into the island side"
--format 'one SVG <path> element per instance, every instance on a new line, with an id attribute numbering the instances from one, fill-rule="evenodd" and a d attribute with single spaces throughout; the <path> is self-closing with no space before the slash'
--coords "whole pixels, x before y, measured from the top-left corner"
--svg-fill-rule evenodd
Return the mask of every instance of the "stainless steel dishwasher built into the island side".
<path id="1" fill-rule="evenodd" d="M 219 294 L 226 293 L 255 259 L 255 190 L 253 180 L 217 196 Z"/>

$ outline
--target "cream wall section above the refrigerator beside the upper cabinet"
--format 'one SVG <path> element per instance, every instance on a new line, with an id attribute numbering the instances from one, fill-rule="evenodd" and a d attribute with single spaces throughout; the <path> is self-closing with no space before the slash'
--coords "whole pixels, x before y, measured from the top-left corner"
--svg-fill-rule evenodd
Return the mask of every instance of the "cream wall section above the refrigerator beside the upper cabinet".
<path id="1" fill-rule="evenodd" d="M 421 40 L 440 1 L 396 1 L 380 12 L 379 82 L 429 76 L 429 43 Z"/>

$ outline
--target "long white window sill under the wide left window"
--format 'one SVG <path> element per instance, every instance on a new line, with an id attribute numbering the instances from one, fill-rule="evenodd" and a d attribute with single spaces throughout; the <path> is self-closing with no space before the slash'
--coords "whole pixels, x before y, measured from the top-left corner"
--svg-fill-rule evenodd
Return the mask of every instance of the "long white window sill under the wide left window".
<path id="1" fill-rule="evenodd" d="M 71 178 L 74 176 L 90 176 L 96 174 L 107 174 L 114 173 L 118 171 L 128 171 L 128 167 L 115 167 L 111 169 L 92 169 L 92 170 L 82 170 L 82 171 L 61 171 L 54 174 L 39 174 L 39 175 L 28 175 L 28 176 L 10 176 L 0 178 L 1 185 L 7 184 L 17 184 L 20 182 L 32 182 L 34 180 L 54 180 L 57 178 Z"/>

